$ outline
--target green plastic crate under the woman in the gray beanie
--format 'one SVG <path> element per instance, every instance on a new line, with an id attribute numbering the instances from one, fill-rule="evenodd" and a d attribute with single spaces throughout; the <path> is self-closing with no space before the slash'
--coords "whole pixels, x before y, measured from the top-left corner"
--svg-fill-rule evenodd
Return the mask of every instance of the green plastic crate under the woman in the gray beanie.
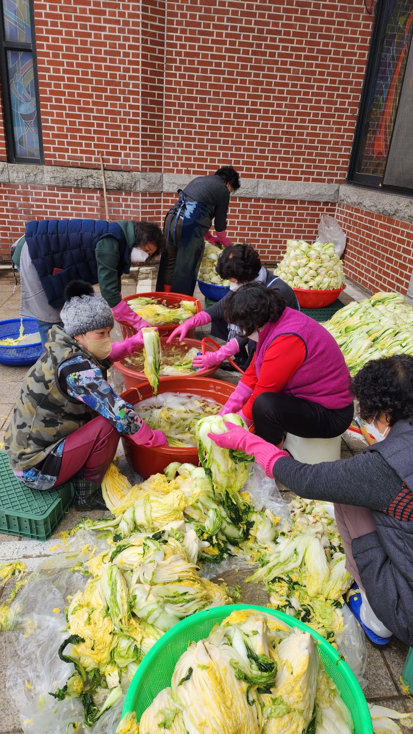
<path id="1" fill-rule="evenodd" d="M 73 503 L 71 482 L 56 490 L 29 490 L 18 482 L 5 451 L 0 451 L 0 533 L 47 540 Z"/>

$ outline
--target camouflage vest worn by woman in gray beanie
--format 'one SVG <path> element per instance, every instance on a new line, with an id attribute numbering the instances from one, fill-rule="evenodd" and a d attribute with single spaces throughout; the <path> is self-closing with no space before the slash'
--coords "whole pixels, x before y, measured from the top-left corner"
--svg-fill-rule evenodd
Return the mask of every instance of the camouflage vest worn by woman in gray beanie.
<path id="1" fill-rule="evenodd" d="M 104 370 L 87 349 L 59 327 L 45 352 L 23 380 L 20 397 L 4 435 L 13 470 L 30 469 L 50 454 L 66 436 L 98 415 L 84 403 L 62 392 L 57 371 L 62 362 L 81 355 Z M 106 360 L 105 360 L 106 362 Z"/>

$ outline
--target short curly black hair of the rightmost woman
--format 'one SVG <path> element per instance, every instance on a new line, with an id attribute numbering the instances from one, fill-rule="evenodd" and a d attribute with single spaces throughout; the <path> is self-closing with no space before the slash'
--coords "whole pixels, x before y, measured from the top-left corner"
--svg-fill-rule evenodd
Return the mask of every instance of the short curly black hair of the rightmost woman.
<path id="1" fill-rule="evenodd" d="M 351 390 L 363 421 L 373 421 L 380 413 L 390 426 L 403 419 L 413 421 L 413 357 L 371 360 L 357 372 Z"/>

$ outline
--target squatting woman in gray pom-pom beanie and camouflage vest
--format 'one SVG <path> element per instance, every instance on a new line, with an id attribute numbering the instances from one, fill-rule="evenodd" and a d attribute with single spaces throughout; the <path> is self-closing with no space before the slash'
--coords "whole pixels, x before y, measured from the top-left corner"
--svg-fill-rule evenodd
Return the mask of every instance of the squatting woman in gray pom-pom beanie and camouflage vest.
<path id="1" fill-rule="evenodd" d="M 29 370 L 4 436 L 10 466 L 26 487 L 48 490 L 69 479 L 78 509 L 106 509 L 100 490 L 120 435 L 165 446 L 134 408 L 114 393 L 106 370 L 143 344 L 139 334 L 111 343 L 112 309 L 89 283 L 65 289 L 61 318 Z"/>

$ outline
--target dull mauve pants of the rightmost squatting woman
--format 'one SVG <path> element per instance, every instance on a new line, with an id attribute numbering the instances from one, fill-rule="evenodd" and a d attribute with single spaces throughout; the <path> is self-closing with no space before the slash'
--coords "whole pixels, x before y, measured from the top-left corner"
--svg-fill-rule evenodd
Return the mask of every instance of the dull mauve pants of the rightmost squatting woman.
<path id="1" fill-rule="evenodd" d="M 351 552 L 351 541 L 354 538 L 359 538 L 362 535 L 367 535 L 377 530 L 376 523 L 373 520 L 370 509 L 367 509 L 367 507 L 335 504 L 334 511 L 335 521 L 346 553 L 346 569 L 348 573 L 351 573 L 354 580 L 357 581 L 360 589 L 364 591 L 364 586 L 359 577 L 359 570 Z"/>

